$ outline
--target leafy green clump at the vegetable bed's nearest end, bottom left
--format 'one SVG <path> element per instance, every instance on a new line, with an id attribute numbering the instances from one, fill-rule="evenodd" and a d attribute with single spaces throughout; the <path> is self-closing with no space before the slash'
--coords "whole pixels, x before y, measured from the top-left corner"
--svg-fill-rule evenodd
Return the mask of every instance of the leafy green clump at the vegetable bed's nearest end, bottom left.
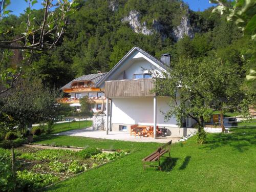
<path id="1" fill-rule="evenodd" d="M 24 191 L 35 190 L 58 181 L 52 174 L 41 174 L 28 172 L 28 170 L 17 171 L 18 188 Z"/>

